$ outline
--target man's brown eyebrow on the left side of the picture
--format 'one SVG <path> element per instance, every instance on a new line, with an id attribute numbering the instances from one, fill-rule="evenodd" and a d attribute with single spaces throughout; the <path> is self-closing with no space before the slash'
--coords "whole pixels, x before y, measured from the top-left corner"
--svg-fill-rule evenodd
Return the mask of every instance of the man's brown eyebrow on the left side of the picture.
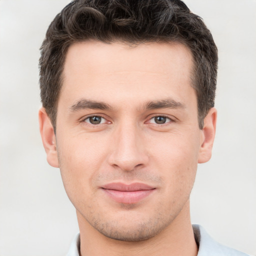
<path id="1" fill-rule="evenodd" d="M 100 102 L 100 101 L 94 101 L 89 99 L 81 99 L 78 100 L 76 103 L 74 103 L 70 107 L 71 112 L 75 112 L 80 109 L 102 109 L 102 110 L 110 110 L 112 109 L 110 105 Z"/>

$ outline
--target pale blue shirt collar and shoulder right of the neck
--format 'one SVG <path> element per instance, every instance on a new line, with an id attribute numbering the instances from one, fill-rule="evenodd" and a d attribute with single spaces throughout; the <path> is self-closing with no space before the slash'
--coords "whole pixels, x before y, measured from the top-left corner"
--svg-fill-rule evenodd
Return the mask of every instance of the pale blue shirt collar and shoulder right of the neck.
<path id="1" fill-rule="evenodd" d="M 249 256 L 216 242 L 200 225 L 193 225 L 193 231 L 199 247 L 197 256 Z"/>

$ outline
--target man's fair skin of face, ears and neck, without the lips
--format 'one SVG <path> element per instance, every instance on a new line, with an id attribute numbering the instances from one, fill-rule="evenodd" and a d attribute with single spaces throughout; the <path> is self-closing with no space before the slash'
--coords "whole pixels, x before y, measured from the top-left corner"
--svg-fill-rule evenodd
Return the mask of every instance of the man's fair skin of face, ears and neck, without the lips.
<path id="1" fill-rule="evenodd" d="M 56 133 L 44 108 L 39 123 L 47 161 L 76 208 L 81 255 L 197 254 L 189 195 L 197 163 L 211 156 L 216 110 L 200 130 L 192 66 L 179 43 L 68 49 Z M 154 189 L 121 203 L 102 189 L 111 182 Z"/>

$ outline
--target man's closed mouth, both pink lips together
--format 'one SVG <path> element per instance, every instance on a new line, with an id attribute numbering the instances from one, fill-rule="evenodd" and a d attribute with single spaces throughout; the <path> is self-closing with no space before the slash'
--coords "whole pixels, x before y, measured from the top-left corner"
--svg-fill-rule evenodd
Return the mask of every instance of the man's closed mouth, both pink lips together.
<path id="1" fill-rule="evenodd" d="M 155 187 L 138 182 L 131 184 L 113 182 L 101 188 L 111 199 L 125 204 L 139 202 L 155 190 Z"/>

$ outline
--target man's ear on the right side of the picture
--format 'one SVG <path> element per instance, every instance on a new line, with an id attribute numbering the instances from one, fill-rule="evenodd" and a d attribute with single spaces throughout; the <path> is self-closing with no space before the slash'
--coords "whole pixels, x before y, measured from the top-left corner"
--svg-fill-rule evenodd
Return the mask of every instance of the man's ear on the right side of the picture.
<path id="1" fill-rule="evenodd" d="M 211 149 L 216 132 L 217 110 L 210 108 L 203 121 L 203 128 L 200 131 L 200 149 L 198 163 L 207 162 L 211 157 Z"/>

